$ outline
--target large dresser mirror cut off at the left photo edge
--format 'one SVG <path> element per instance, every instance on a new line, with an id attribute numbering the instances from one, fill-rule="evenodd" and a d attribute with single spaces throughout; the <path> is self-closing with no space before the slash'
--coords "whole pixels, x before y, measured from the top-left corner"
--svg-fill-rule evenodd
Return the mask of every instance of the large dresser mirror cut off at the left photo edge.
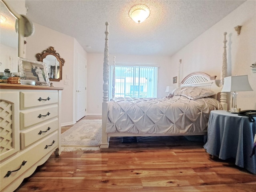
<path id="1" fill-rule="evenodd" d="M 2 0 L 0 11 L 0 71 L 4 72 L 4 69 L 9 69 L 10 72 L 18 72 L 19 16 L 11 12 Z"/>

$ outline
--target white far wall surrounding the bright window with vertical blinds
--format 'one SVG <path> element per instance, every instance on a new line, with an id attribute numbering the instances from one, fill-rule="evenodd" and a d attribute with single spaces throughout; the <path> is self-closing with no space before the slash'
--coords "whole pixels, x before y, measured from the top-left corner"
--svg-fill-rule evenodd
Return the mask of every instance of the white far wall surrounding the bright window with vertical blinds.
<path id="1" fill-rule="evenodd" d="M 103 39 L 104 41 L 104 39 Z M 116 56 L 116 64 L 151 64 L 158 67 L 158 97 L 166 95 L 165 88 L 172 83 L 172 71 L 170 57 L 160 56 L 137 56 L 137 55 L 109 55 L 109 64 L 113 64 Z M 102 114 L 102 97 L 103 97 L 103 61 L 104 54 L 88 53 L 88 90 L 87 90 L 87 115 Z M 178 63 L 178 62 L 177 62 Z M 176 75 L 177 76 L 177 75 Z M 112 90 L 110 90 L 112 91 Z"/>

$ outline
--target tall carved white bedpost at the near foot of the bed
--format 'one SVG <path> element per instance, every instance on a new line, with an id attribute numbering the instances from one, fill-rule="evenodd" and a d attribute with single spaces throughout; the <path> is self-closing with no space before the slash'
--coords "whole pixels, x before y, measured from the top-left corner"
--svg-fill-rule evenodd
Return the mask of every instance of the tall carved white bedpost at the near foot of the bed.
<path id="1" fill-rule="evenodd" d="M 106 134 L 106 125 L 108 118 L 108 25 L 106 22 L 106 31 L 105 31 L 105 49 L 104 49 L 104 63 L 103 63 L 103 102 L 102 102 L 102 140 L 100 148 L 108 148 L 108 136 Z"/>

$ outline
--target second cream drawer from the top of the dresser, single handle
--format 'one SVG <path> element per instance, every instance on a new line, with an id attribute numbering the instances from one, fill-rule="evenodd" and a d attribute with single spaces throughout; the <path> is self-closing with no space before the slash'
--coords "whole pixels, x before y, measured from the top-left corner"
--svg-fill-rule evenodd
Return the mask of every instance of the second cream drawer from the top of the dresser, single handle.
<path id="1" fill-rule="evenodd" d="M 20 130 L 58 116 L 58 106 L 53 105 L 20 112 Z"/>

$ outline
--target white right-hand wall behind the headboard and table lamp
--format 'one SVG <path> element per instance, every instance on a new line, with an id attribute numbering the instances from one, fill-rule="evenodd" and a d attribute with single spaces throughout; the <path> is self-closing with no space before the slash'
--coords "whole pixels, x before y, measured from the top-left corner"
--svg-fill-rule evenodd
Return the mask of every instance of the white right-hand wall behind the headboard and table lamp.
<path id="1" fill-rule="evenodd" d="M 248 75 L 254 90 L 238 92 L 237 107 L 242 110 L 256 109 L 256 73 L 252 73 L 250 67 L 256 62 L 255 13 L 256 1 L 245 2 L 172 56 L 172 65 L 182 59 L 181 79 L 194 71 L 203 71 L 220 79 L 223 33 L 227 32 L 228 76 Z M 234 30 L 237 25 L 242 26 L 239 36 Z"/>

